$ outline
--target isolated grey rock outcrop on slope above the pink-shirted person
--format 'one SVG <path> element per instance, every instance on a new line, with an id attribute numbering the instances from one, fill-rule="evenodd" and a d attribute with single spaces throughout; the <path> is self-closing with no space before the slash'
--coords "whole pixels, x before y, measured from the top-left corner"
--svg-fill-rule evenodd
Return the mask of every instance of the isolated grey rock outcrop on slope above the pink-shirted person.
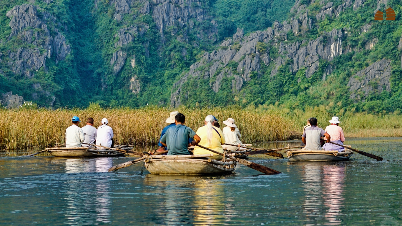
<path id="1" fill-rule="evenodd" d="M 367 97 L 373 92 L 381 93 L 385 88 L 390 92 L 391 61 L 382 59 L 357 72 L 348 82 L 350 99 L 359 99 L 358 92 Z"/>

